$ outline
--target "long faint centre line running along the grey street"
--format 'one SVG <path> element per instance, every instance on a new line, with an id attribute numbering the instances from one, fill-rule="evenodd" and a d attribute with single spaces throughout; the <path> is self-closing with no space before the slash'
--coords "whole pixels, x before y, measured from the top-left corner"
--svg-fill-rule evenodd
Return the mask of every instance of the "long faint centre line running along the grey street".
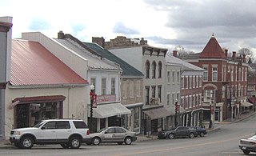
<path id="1" fill-rule="evenodd" d="M 252 134 L 239 136 L 237 138 L 230 138 L 230 139 L 226 139 L 226 140 L 220 140 L 220 141 L 216 141 L 216 142 L 205 142 L 205 143 L 199 143 L 199 144 L 194 144 L 194 145 L 190 145 L 190 146 L 178 146 L 178 147 L 174 147 L 174 148 L 164 148 L 164 149 L 158 149 L 158 150 L 138 151 L 138 152 L 134 152 L 134 153 L 130 153 L 130 154 L 114 154 L 114 156 L 150 154 L 150 153 L 161 152 L 161 151 L 166 151 L 166 150 L 180 150 L 180 149 L 186 149 L 186 148 L 197 147 L 197 146 L 209 146 L 209 145 L 212 145 L 212 144 L 218 144 L 218 143 L 222 143 L 222 142 L 230 142 L 232 140 L 236 140 L 236 139 L 240 139 L 240 138 L 248 138 L 250 136 L 252 136 Z"/>

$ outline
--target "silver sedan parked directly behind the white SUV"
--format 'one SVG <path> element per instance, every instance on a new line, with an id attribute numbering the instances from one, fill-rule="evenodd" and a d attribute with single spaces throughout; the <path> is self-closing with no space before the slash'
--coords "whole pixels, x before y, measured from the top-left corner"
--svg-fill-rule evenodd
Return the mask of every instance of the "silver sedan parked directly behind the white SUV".
<path id="1" fill-rule="evenodd" d="M 125 142 L 126 145 L 130 145 L 131 142 L 135 142 L 137 137 L 135 132 L 126 130 L 120 126 L 111 126 L 99 130 L 98 133 L 90 134 L 91 143 L 99 145 L 102 142 L 117 142 L 118 145 L 122 145 Z"/>

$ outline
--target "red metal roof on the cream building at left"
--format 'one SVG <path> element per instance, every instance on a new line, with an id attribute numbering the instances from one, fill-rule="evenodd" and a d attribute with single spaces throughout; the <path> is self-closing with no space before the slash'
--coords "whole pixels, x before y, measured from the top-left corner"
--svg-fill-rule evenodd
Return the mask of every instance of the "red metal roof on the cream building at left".
<path id="1" fill-rule="evenodd" d="M 38 42 L 12 40 L 10 84 L 13 86 L 88 83 Z"/>

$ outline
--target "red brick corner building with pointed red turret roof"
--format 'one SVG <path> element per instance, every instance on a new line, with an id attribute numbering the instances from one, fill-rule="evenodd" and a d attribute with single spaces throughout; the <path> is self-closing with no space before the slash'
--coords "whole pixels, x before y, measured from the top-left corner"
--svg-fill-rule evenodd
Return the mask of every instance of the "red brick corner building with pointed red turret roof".
<path id="1" fill-rule="evenodd" d="M 233 51 L 232 57 L 228 57 L 228 50 L 222 49 L 213 34 L 201 53 L 187 55 L 185 59 L 205 70 L 202 76 L 204 121 L 233 120 L 250 106 L 246 102 L 246 55 L 237 56 Z"/>

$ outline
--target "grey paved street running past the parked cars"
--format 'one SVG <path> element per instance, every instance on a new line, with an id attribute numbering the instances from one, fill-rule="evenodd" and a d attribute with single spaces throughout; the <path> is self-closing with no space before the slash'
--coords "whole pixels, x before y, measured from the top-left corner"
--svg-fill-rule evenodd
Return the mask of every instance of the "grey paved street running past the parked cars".
<path id="1" fill-rule="evenodd" d="M 218 127 L 218 130 L 210 131 L 203 138 L 158 140 L 155 137 L 139 137 L 138 142 L 133 142 L 131 146 L 118 146 L 114 143 L 82 146 L 79 150 L 65 150 L 59 145 L 34 146 L 32 150 L 19 150 L 14 146 L 5 145 L 0 146 L 0 155 L 244 155 L 242 150 L 239 150 L 238 143 L 240 138 L 248 138 L 254 134 L 256 115 L 238 122 L 215 124 L 214 127 Z"/>

